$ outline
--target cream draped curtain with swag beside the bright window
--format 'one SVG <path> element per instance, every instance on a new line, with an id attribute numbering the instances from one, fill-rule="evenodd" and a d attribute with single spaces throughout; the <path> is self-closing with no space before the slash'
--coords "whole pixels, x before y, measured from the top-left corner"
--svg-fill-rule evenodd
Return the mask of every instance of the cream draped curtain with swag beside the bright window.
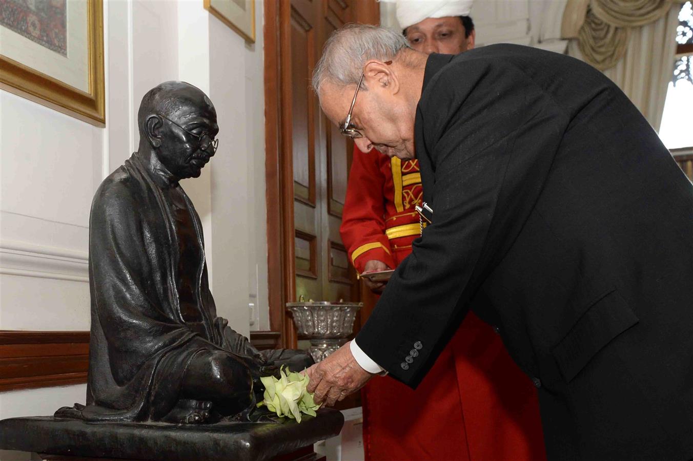
<path id="1" fill-rule="evenodd" d="M 679 6 L 673 0 L 568 0 L 563 13 L 568 55 L 604 72 L 656 130 L 672 80 Z"/>

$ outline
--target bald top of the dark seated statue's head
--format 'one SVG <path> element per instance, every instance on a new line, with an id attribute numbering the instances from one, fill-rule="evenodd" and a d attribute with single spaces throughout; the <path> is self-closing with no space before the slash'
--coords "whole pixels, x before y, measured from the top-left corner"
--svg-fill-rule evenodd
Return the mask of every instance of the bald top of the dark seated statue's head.
<path id="1" fill-rule="evenodd" d="M 178 122 L 192 112 L 202 113 L 216 122 L 216 110 L 202 90 L 187 82 L 164 82 L 147 91 L 139 105 L 137 126 L 139 135 L 145 136 L 146 120 L 159 114 Z"/>

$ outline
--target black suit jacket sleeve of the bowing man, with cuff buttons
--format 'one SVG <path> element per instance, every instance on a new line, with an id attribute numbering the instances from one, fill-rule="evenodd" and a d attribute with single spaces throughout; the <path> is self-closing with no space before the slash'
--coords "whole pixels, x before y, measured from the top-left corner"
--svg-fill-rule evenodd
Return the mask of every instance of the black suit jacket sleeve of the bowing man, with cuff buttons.
<path id="1" fill-rule="evenodd" d="M 457 60 L 428 82 L 416 124 L 433 222 L 356 337 L 392 377 L 415 388 L 430 370 L 532 210 L 567 119 L 511 64 Z"/>

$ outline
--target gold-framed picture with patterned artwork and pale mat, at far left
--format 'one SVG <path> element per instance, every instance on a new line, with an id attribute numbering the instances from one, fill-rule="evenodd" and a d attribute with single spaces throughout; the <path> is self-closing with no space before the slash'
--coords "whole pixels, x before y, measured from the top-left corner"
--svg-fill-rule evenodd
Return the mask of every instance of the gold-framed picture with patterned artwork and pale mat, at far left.
<path id="1" fill-rule="evenodd" d="M 103 0 L 0 0 L 0 88 L 105 126 Z"/>

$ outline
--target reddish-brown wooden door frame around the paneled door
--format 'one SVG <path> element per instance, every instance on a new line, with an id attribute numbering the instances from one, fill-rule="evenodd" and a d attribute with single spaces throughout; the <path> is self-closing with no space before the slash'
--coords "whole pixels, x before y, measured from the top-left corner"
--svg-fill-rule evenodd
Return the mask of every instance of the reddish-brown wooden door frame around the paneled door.
<path id="1" fill-rule="evenodd" d="M 326 0 L 337 1 L 341 0 Z M 378 24 L 380 8 L 376 0 L 353 1 L 356 22 Z M 291 120 L 290 1 L 263 1 L 265 25 L 265 198 L 267 200 L 267 284 L 270 330 L 276 347 L 297 347 L 293 322 L 286 314 L 286 302 L 296 298 L 294 251 L 294 177 L 292 140 L 287 128 Z M 277 336 L 279 333 L 279 336 Z"/>

